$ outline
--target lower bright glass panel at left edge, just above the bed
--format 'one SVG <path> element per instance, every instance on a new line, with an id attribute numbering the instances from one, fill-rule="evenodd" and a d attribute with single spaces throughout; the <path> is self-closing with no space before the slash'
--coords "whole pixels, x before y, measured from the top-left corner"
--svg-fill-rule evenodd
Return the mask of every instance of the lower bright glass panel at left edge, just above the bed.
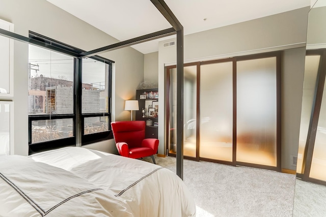
<path id="1" fill-rule="evenodd" d="M 0 156 L 10 154 L 10 104 L 0 104 Z"/>

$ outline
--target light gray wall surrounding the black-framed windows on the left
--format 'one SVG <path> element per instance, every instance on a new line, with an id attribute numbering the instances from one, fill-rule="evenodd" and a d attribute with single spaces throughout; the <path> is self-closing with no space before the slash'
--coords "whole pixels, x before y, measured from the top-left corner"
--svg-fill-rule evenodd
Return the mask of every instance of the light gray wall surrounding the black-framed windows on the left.
<path id="1" fill-rule="evenodd" d="M 49 38 L 92 50 L 118 42 L 115 38 L 44 0 L 0 0 L 0 19 L 14 23 L 14 32 L 28 37 L 29 30 Z M 127 47 L 101 56 L 114 60 L 113 119 L 128 120 L 124 101 L 135 98 L 135 89 L 144 79 L 144 55 Z M 15 153 L 28 154 L 28 45 L 14 44 Z M 116 151 L 114 141 L 91 145 Z"/>

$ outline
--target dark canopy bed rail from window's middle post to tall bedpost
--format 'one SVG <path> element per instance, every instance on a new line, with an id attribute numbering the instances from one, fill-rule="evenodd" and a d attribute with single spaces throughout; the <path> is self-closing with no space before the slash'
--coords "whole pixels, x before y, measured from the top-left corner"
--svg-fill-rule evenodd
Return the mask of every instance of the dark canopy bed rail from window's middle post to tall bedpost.
<path id="1" fill-rule="evenodd" d="M 155 33 L 150 33 L 144 36 L 140 36 L 137 38 L 133 38 L 133 39 L 129 39 L 123 42 L 118 42 L 116 44 L 112 44 L 112 45 L 108 45 L 105 47 L 101 47 L 101 48 L 97 48 L 95 50 L 91 50 L 91 51 L 87 51 L 84 53 L 80 53 L 79 57 L 90 57 L 90 56 L 94 56 L 96 54 L 100 54 L 100 53 L 104 53 L 104 52 L 108 52 L 108 51 L 112 51 L 112 50 L 117 50 L 120 48 L 124 48 L 124 47 L 128 47 L 131 45 L 135 45 L 135 44 L 139 44 L 139 43 L 143 43 L 143 42 L 147 42 L 147 41 L 151 41 L 154 39 L 159 39 L 159 38 L 163 38 L 166 36 L 172 36 L 175 35 L 175 29 L 174 28 L 167 28 L 164 30 L 160 30 L 158 32 Z"/>

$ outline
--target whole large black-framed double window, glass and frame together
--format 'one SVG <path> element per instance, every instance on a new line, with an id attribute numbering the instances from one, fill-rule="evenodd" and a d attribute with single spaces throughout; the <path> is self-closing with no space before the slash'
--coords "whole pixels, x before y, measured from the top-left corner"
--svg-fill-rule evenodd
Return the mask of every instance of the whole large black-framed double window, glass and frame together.
<path id="1" fill-rule="evenodd" d="M 69 55 L 29 45 L 29 152 L 110 138 L 111 61 L 77 58 L 82 50 L 37 38 Z"/>

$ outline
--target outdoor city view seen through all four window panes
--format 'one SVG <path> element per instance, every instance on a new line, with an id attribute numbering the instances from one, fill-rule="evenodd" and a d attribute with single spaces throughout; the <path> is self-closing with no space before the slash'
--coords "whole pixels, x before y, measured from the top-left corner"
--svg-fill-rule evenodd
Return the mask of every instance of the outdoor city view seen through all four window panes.
<path id="1" fill-rule="evenodd" d="M 32 121 L 32 143 L 72 137 L 74 114 L 74 59 L 54 51 L 29 46 L 29 115 L 47 115 Z M 82 113 L 108 112 L 108 65 L 83 59 Z M 107 116 L 85 117 L 84 135 L 108 131 Z"/>

